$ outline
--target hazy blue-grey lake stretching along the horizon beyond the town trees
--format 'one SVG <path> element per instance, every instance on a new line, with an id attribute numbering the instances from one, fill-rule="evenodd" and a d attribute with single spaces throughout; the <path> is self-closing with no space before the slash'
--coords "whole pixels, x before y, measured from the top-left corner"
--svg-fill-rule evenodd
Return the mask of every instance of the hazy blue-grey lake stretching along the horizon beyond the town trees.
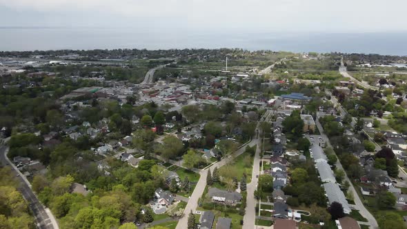
<path id="1" fill-rule="evenodd" d="M 407 55 L 406 33 L 146 32 L 114 28 L 0 28 L 0 50 L 243 48 Z"/>

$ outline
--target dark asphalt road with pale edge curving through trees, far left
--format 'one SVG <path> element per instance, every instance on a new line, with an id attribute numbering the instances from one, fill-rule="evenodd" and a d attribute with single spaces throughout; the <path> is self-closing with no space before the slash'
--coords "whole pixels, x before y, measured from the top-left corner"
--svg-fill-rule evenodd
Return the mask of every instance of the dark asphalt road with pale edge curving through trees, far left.
<path id="1" fill-rule="evenodd" d="M 55 220 L 54 216 L 50 212 L 48 208 L 45 208 L 37 199 L 37 196 L 34 195 L 34 192 L 32 192 L 30 188 L 30 183 L 23 175 L 21 172 L 15 167 L 11 161 L 8 159 L 6 156 L 8 152 L 8 147 L 6 146 L 0 146 L 0 163 L 2 166 L 6 166 L 7 164 L 10 165 L 10 168 L 13 170 L 13 174 L 17 177 L 17 180 L 20 182 L 19 186 L 19 191 L 23 195 L 24 199 L 30 203 L 30 209 L 32 210 L 32 214 L 35 217 L 35 220 L 37 221 L 37 228 L 41 229 L 58 229 L 58 223 Z"/>

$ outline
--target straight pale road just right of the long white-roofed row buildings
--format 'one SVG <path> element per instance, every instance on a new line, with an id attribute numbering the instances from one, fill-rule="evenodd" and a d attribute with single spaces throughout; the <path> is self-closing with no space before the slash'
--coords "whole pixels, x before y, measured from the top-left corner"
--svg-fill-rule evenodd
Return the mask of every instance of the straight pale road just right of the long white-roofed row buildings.
<path id="1" fill-rule="evenodd" d="M 321 123 L 319 123 L 319 120 L 317 119 L 315 121 L 315 123 L 317 124 L 317 128 L 318 128 L 319 132 L 321 133 L 321 137 L 322 137 L 322 139 L 324 139 L 324 141 L 326 143 L 326 146 L 332 148 L 332 145 L 330 144 L 330 141 L 329 141 L 328 137 L 324 133 L 324 128 L 322 128 Z M 344 170 L 344 168 L 341 165 L 341 161 L 339 161 L 339 160 L 337 160 L 337 163 L 335 164 L 335 166 L 337 168 L 339 168 L 339 170 Z M 379 228 L 379 225 L 377 224 L 377 221 L 376 221 L 375 217 L 373 217 L 373 215 L 370 214 L 370 212 L 365 208 L 365 206 L 364 206 L 363 202 L 361 201 L 359 195 L 357 195 L 355 187 L 353 187 L 353 183 L 350 181 L 348 175 L 346 175 L 346 172 L 345 172 L 345 180 L 348 181 L 349 184 L 350 184 L 349 190 L 353 194 L 356 209 L 359 210 L 360 214 L 368 220 L 370 228 L 373 228 L 373 229 Z"/>

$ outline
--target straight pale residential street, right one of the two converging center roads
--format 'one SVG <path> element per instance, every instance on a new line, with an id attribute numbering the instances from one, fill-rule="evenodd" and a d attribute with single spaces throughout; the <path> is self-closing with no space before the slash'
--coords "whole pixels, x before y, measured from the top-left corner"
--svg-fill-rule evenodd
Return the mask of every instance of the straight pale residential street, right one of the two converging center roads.
<path id="1" fill-rule="evenodd" d="M 253 162 L 252 181 L 247 184 L 247 197 L 246 197 L 246 214 L 243 217 L 243 229 L 255 228 L 256 219 L 256 203 L 255 190 L 259 183 L 257 176 L 260 174 L 260 153 L 261 153 L 261 139 L 257 138 L 257 148 L 255 160 Z"/>

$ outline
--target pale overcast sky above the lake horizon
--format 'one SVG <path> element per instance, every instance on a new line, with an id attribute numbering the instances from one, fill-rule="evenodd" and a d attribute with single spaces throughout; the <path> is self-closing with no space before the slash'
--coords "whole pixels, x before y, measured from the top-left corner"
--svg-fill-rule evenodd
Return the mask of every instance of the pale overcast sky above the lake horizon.
<path id="1" fill-rule="evenodd" d="M 0 0 L 0 27 L 406 32 L 406 0 Z"/>

